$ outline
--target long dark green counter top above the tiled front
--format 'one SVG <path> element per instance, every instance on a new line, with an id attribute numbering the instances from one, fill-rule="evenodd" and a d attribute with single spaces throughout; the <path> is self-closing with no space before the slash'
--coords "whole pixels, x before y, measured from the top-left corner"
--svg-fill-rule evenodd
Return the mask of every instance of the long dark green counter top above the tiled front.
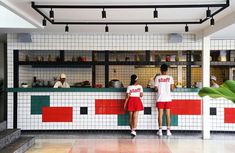
<path id="1" fill-rule="evenodd" d="M 198 92 L 199 88 L 176 88 L 173 92 Z M 126 88 L 8 88 L 7 92 L 126 92 Z M 153 89 L 144 88 L 144 92 Z"/>

